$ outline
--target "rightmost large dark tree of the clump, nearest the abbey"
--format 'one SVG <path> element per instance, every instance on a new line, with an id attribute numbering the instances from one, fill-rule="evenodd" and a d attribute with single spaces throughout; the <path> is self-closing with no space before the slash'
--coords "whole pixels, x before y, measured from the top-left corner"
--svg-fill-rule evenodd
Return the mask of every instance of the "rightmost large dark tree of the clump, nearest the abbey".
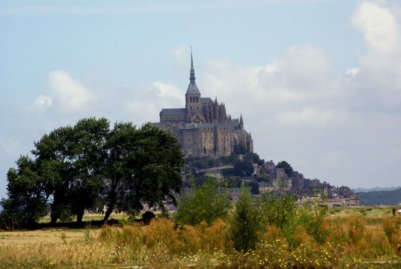
<path id="1" fill-rule="evenodd" d="M 137 214 L 143 204 L 165 210 L 182 186 L 183 156 L 176 137 L 150 123 L 116 123 L 106 143 L 103 184 L 107 220 L 114 210 Z"/>

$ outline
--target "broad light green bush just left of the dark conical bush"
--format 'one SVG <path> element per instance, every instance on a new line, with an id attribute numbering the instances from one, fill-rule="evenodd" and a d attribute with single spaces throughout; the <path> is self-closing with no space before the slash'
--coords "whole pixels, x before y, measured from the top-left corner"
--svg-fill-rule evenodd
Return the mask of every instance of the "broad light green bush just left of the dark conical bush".
<path id="1" fill-rule="evenodd" d="M 197 189 L 181 196 L 174 219 L 179 224 L 195 225 L 202 221 L 211 224 L 218 218 L 224 219 L 231 207 L 227 188 L 219 186 L 213 177 Z"/>

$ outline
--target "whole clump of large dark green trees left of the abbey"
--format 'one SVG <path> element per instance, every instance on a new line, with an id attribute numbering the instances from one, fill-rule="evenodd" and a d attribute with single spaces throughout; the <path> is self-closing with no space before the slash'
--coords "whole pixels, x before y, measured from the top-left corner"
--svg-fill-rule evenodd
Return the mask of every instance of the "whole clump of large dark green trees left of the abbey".
<path id="1" fill-rule="evenodd" d="M 35 158 L 21 156 L 9 170 L 8 198 L 0 202 L 0 217 L 14 226 L 32 225 L 48 213 L 52 223 L 73 215 L 80 222 L 85 210 L 104 206 L 107 220 L 113 211 L 137 214 L 144 204 L 176 204 L 183 156 L 167 130 L 130 122 L 110 130 L 106 118 L 84 118 L 34 145 Z"/>

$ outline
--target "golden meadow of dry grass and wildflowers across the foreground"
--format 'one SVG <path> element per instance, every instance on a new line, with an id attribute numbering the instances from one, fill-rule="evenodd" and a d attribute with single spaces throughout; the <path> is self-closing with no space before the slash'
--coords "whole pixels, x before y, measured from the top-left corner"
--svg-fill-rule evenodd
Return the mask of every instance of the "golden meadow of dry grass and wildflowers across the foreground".
<path id="1" fill-rule="evenodd" d="M 329 209 L 320 230 L 324 240 L 303 226 L 288 235 L 267 225 L 255 249 L 246 252 L 235 250 L 230 223 L 221 219 L 194 226 L 158 217 L 149 225 L 2 231 L 0 267 L 399 268 L 400 222 L 389 207 Z"/>

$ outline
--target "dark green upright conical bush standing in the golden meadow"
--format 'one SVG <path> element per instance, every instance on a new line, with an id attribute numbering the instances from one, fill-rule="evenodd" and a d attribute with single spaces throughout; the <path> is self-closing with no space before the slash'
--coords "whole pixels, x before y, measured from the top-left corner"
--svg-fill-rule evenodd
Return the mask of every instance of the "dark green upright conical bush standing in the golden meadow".
<path id="1" fill-rule="evenodd" d="M 254 249 L 258 241 L 257 232 L 261 229 L 261 211 L 252 198 L 249 188 L 241 187 L 238 202 L 231 218 L 230 240 L 237 251 L 247 252 Z"/>

